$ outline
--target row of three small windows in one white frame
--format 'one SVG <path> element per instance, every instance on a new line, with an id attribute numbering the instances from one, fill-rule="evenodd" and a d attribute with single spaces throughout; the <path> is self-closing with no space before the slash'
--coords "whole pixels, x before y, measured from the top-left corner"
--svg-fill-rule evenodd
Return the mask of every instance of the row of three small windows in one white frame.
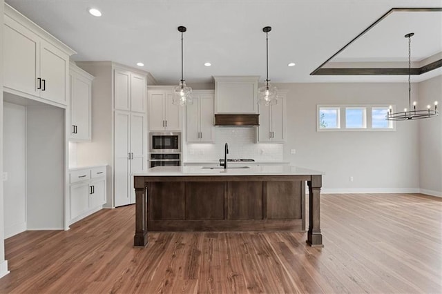
<path id="1" fill-rule="evenodd" d="M 387 121 L 387 105 L 317 105 L 318 132 L 394 131 L 394 121 Z M 342 114 L 342 115 L 341 115 Z"/>

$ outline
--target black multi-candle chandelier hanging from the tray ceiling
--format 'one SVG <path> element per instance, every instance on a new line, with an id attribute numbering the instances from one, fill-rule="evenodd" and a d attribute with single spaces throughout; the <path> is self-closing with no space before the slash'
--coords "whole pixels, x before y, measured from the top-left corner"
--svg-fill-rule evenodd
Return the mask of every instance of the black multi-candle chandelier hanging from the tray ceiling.
<path id="1" fill-rule="evenodd" d="M 431 110 L 431 106 L 427 105 L 426 110 L 416 110 L 416 101 L 413 102 L 412 108 L 412 37 L 414 32 L 410 32 L 405 35 L 408 38 L 408 108 L 405 108 L 403 112 L 392 112 L 393 108 L 390 106 L 387 113 L 387 120 L 389 121 L 405 121 L 411 119 L 427 119 L 429 117 L 436 117 L 439 115 L 439 110 L 437 110 L 437 101 L 434 101 L 434 110 Z"/>

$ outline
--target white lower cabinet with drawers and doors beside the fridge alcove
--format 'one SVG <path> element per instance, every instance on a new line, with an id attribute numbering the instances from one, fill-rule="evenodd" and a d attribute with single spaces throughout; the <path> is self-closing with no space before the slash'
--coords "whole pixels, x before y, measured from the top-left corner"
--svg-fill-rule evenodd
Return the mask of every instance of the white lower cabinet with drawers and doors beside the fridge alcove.
<path id="1" fill-rule="evenodd" d="M 106 203 L 106 166 L 71 170 L 69 177 L 69 224 L 73 224 Z"/>

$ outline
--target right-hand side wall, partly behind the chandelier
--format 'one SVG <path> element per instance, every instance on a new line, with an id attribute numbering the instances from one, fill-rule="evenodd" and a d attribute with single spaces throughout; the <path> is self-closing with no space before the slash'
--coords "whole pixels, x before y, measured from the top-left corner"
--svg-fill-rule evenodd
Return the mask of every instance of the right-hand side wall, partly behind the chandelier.
<path id="1" fill-rule="evenodd" d="M 419 84 L 419 109 L 434 101 L 442 107 L 442 76 Z M 419 170 L 421 192 L 442 197 L 442 113 L 419 121 Z"/>

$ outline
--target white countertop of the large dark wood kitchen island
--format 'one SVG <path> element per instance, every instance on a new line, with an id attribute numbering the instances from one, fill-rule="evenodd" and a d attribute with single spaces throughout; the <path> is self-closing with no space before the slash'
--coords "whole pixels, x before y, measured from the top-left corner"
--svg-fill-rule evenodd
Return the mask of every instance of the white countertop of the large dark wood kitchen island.
<path id="1" fill-rule="evenodd" d="M 247 166 L 247 164 L 244 164 Z M 237 166 L 238 167 L 238 166 Z M 324 175 L 325 173 L 317 170 L 309 170 L 307 168 L 300 168 L 297 166 L 274 165 L 274 166 L 249 166 L 249 168 L 204 168 L 204 166 L 156 166 L 149 168 L 144 173 L 135 173 L 134 176 L 163 176 L 163 177 L 180 177 L 192 175 L 215 175 L 215 176 L 229 176 L 229 175 Z"/>

